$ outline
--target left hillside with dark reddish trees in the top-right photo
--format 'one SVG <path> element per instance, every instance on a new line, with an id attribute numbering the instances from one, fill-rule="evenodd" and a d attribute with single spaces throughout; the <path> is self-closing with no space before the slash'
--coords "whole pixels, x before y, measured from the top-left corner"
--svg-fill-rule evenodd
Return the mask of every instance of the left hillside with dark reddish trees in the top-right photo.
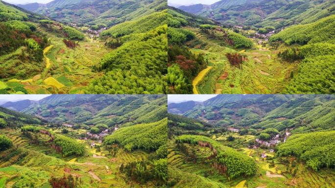
<path id="1" fill-rule="evenodd" d="M 253 46 L 246 37 L 222 28 L 214 21 L 173 7 L 168 9 L 168 26 L 168 90 L 171 94 L 198 93 L 198 82 L 213 67 L 210 54 L 214 46 L 227 47 L 227 52 Z M 212 44 L 214 41 L 218 43 Z M 240 67 L 242 61 L 236 65 Z"/>

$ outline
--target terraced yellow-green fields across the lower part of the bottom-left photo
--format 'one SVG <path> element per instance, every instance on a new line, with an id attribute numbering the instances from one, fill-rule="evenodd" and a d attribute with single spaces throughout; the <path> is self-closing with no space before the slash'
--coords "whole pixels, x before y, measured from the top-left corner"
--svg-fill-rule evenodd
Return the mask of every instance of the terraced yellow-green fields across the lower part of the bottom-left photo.
<path id="1" fill-rule="evenodd" d="M 82 188 L 141 188 L 144 185 L 133 181 L 125 182 L 124 174 L 119 172 L 120 164 L 127 164 L 132 161 L 142 161 L 148 158 L 149 153 L 135 150 L 126 152 L 122 148 L 118 149 L 115 157 L 109 151 L 101 147 L 97 152 L 95 148 L 90 148 L 90 141 L 84 141 L 88 149 L 88 154 L 82 157 L 63 157 L 55 152 L 48 144 L 32 142 L 21 135 L 20 130 L 1 129 L 1 134 L 5 134 L 13 141 L 14 148 L 0 152 L 0 156 L 10 156 L 9 161 L 0 159 L 0 188 L 11 187 L 17 182 L 34 182 L 35 186 L 48 188 L 50 176 L 62 177 L 64 174 L 72 174 L 81 181 Z M 34 134 L 38 140 L 47 139 L 43 134 Z M 45 137 L 45 138 L 44 138 Z M 19 148 L 19 149 L 16 149 Z M 20 159 L 20 160 L 19 160 Z M 19 161 L 18 161 L 19 160 Z M 155 187 L 151 183 L 145 187 Z"/>

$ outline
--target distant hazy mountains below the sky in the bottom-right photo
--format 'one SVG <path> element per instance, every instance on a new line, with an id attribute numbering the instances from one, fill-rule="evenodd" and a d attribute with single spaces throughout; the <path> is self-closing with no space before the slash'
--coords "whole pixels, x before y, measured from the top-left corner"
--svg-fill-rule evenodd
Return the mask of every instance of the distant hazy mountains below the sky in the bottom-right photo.
<path id="1" fill-rule="evenodd" d="M 235 100 L 234 100 L 235 99 Z M 175 113 L 183 107 L 168 105 Z M 219 127 L 238 126 L 253 129 L 294 128 L 295 132 L 332 130 L 332 95 L 217 95 L 195 105 L 183 116 Z"/>

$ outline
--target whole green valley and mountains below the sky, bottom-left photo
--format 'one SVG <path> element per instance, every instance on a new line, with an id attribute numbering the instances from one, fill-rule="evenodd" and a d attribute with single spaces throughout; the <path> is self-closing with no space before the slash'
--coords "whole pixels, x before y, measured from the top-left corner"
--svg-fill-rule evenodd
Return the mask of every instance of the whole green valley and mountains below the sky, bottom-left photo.
<path id="1" fill-rule="evenodd" d="M 166 95 L 20 102 L 3 106 L 25 113 L 0 107 L 1 188 L 167 186 Z"/>

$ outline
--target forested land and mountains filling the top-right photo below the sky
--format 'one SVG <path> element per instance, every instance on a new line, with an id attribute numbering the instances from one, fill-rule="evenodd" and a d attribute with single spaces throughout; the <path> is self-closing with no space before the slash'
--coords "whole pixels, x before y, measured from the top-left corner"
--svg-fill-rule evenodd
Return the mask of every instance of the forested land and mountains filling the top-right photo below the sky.
<path id="1" fill-rule="evenodd" d="M 221 0 L 169 7 L 169 44 L 207 62 L 190 75 L 169 59 L 169 93 L 333 94 L 332 2 Z"/>

